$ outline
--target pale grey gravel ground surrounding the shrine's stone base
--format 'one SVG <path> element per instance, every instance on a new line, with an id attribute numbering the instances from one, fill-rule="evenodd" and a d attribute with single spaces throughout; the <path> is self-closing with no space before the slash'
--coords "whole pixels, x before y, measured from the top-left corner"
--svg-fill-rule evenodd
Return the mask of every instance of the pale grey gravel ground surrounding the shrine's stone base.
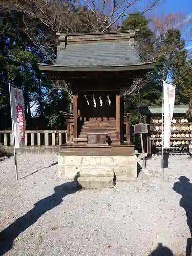
<path id="1" fill-rule="evenodd" d="M 162 243 L 173 254 L 161 255 L 184 256 L 192 184 L 178 178 L 191 178 L 191 164 L 188 156 L 170 156 L 161 182 L 161 159 L 153 156 L 147 161 L 150 175 L 140 172 L 136 181 L 114 189 L 77 191 L 73 182 L 57 178 L 54 155 L 18 155 L 18 181 L 14 158 L 5 159 L 0 255 L 148 256 Z"/>

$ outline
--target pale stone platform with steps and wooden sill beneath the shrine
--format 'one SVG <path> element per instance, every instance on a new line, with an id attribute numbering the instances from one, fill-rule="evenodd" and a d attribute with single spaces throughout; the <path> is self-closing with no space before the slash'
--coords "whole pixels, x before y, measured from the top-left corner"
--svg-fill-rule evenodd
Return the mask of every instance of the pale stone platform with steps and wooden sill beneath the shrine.
<path id="1" fill-rule="evenodd" d="M 84 188 L 113 187 L 114 180 L 137 177 L 133 146 L 66 146 L 58 156 L 58 176 Z"/>

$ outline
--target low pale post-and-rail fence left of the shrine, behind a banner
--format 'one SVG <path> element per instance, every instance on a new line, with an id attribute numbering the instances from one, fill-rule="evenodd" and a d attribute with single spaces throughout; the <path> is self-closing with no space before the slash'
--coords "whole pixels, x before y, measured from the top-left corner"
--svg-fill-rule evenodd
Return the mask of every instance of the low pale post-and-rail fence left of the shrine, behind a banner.
<path id="1" fill-rule="evenodd" d="M 67 142 L 67 130 L 25 131 L 25 146 L 61 146 Z M 0 131 L 0 144 L 13 146 L 12 131 Z"/>

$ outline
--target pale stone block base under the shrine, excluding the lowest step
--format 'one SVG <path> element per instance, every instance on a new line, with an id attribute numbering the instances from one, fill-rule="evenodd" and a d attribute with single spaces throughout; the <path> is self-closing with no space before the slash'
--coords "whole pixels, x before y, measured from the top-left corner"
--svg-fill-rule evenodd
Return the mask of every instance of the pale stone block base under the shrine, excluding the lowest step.
<path id="1" fill-rule="evenodd" d="M 137 157 L 132 156 L 58 156 L 58 176 L 68 180 L 78 177 L 137 177 Z"/>

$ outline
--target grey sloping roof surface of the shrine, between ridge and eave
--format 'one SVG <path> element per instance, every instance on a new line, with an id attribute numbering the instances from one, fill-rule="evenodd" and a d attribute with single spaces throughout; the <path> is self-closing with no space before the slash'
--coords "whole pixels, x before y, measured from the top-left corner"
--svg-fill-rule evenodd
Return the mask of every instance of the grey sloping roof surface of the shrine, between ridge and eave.
<path id="1" fill-rule="evenodd" d="M 105 41 L 69 44 L 57 54 L 55 65 L 65 67 L 95 67 L 138 65 L 140 60 L 137 48 L 130 41 Z"/>

